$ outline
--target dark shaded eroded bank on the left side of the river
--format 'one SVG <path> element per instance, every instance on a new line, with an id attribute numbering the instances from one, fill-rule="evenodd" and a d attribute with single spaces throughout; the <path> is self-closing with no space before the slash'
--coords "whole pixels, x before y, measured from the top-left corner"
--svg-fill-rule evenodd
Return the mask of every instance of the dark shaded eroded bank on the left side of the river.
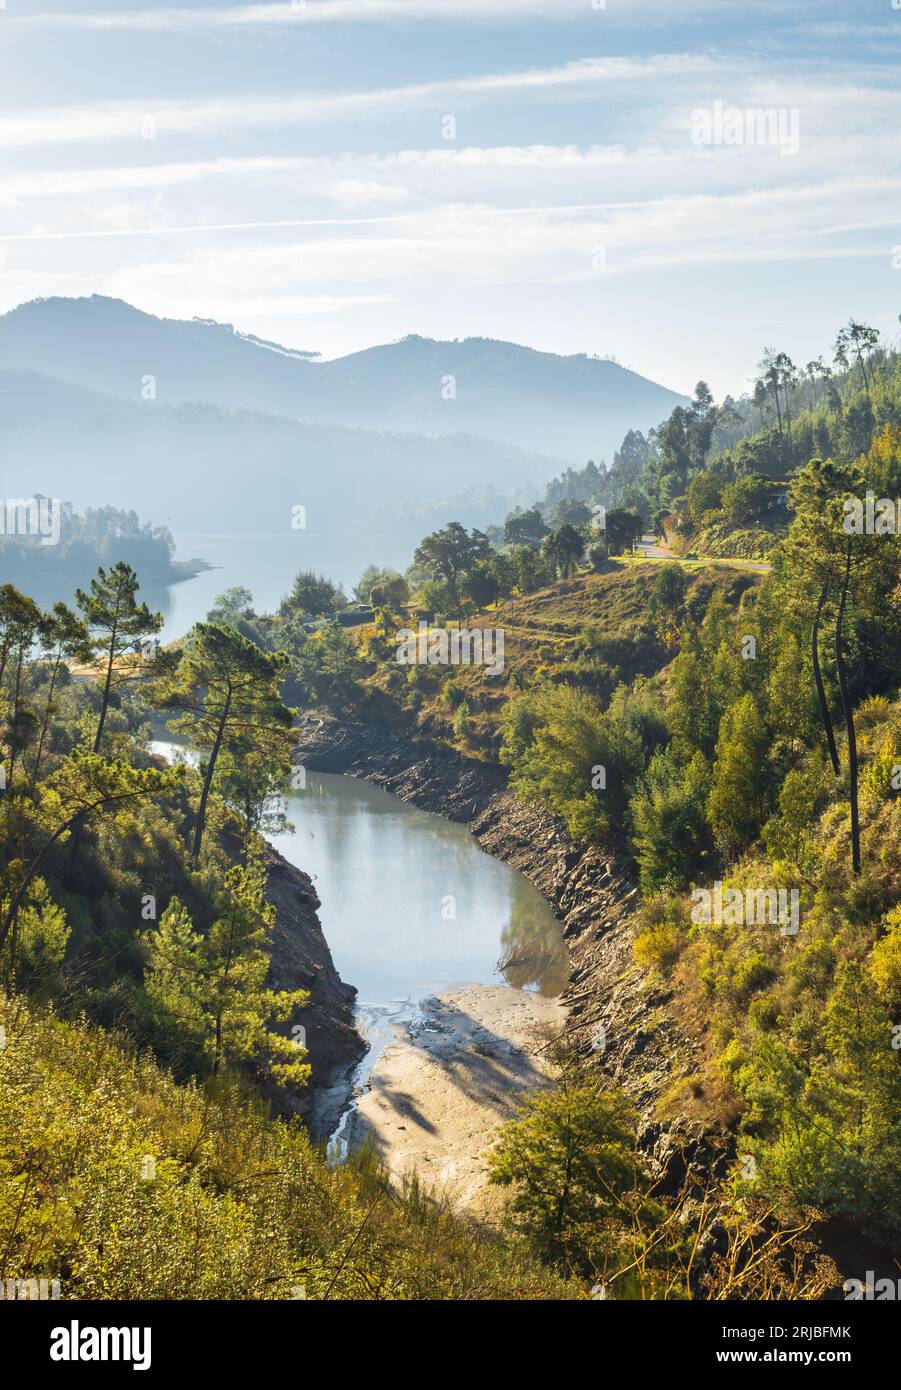
<path id="1" fill-rule="evenodd" d="M 366 1052 L 353 1020 L 356 990 L 335 969 L 311 878 L 271 847 L 267 898 L 277 913 L 270 984 L 275 990 L 309 990 L 310 1002 L 298 1022 L 306 1030 L 311 1066 L 307 1087 L 273 1086 L 267 1095 L 275 1109 L 299 1115 L 314 1138 L 324 1138 L 350 1098 L 353 1069 Z"/>

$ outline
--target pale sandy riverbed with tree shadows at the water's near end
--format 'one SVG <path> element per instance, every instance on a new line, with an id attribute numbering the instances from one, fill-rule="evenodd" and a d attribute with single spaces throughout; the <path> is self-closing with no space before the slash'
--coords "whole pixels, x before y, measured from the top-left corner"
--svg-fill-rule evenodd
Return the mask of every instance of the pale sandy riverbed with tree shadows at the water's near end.
<path id="1" fill-rule="evenodd" d="M 487 1187 L 487 1151 L 516 1113 L 520 1091 L 548 1084 L 548 1029 L 556 999 L 505 986 L 466 986 L 425 1001 L 378 1058 L 350 1127 L 373 1136 L 391 1172 L 416 1172 L 457 1208 L 487 1215 L 502 1201 Z"/>

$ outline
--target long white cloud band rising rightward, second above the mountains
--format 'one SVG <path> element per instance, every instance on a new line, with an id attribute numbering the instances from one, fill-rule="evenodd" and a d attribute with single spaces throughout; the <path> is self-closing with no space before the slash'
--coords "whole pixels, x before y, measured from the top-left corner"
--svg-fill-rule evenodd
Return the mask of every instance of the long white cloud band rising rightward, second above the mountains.
<path id="1" fill-rule="evenodd" d="M 49 231 L 103 231 L 118 200 L 136 208 L 135 229 L 149 235 L 185 224 L 291 221 L 299 196 L 298 225 L 328 218 L 328 200 L 360 214 L 403 202 L 489 202 L 514 206 L 573 203 L 608 196 L 641 200 L 651 190 L 722 192 L 747 186 L 798 185 L 836 175 L 898 167 L 895 124 L 901 93 L 809 89 L 804 99 L 799 157 L 776 157 L 768 146 L 698 149 L 690 139 L 690 104 L 658 113 L 656 143 L 499 145 L 341 152 L 317 156 L 218 157 L 159 164 L 106 164 L 81 168 L 22 170 L 0 177 L 0 207 L 33 225 L 29 206 L 42 203 Z M 773 93 L 754 89 L 755 100 Z M 859 104 L 863 113 L 859 113 Z M 876 121 L 880 113 L 884 120 Z M 861 125 L 865 138 L 861 138 Z M 152 153 L 153 146 L 149 147 Z M 108 197 L 103 197 L 108 195 Z M 143 195 L 143 197 L 142 197 Z M 323 206 L 325 200 L 325 206 Z M 253 208 L 253 220 L 247 210 Z M 56 222 L 56 227 L 50 225 Z M 121 225 L 115 222 L 115 225 Z M 8 227 L 7 231 L 14 228 Z"/>

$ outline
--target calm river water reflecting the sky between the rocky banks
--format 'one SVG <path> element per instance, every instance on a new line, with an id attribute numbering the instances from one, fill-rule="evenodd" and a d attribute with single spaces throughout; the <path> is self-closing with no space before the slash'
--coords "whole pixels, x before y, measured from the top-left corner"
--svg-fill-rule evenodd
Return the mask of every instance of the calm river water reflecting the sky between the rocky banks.
<path id="1" fill-rule="evenodd" d="M 153 748 L 178 752 L 168 741 Z M 292 830 L 270 840 L 313 878 L 338 973 L 357 988 L 357 1026 L 370 1044 L 357 1088 L 396 1026 L 414 1022 L 438 990 L 509 984 L 556 997 L 563 988 L 560 923 L 464 826 L 334 773 L 306 771 L 285 810 Z"/>

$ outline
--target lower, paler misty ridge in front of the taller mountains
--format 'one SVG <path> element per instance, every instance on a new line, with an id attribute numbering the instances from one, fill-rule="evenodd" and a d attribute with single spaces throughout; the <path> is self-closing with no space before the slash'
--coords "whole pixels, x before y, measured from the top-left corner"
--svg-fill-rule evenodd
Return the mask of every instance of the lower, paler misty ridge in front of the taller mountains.
<path id="1" fill-rule="evenodd" d="M 174 532 L 285 534 L 303 506 L 310 535 L 378 530 L 403 555 L 432 523 L 498 520 L 556 467 L 491 439 L 142 403 L 3 370 L 0 445 L 6 496 L 135 509 Z"/>

